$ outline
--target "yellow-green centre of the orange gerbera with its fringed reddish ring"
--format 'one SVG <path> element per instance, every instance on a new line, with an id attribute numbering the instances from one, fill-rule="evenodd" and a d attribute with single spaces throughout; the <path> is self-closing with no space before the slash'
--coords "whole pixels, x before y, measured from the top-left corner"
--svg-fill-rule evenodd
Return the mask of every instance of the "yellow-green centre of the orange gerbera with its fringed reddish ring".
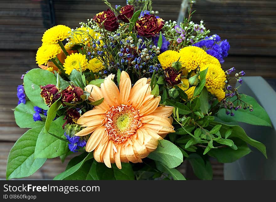
<path id="1" fill-rule="evenodd" d="M 139 111 L 133 106 L 112 106 L 106 113 L 105 130 L 114 144 L 124 143 L 141 127 Z"/>

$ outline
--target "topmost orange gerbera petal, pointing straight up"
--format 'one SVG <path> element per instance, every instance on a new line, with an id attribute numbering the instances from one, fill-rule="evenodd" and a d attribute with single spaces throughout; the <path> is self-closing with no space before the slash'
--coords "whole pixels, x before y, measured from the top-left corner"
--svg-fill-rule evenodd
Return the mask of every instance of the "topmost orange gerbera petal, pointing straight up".
<path id="1" fill-rule="evenodd" d="M 122 71 L 121 73 L 119 88 L 121 104 L 128 104 L 131 90 L 131 80 L 129 75 L 125 71 Z"/>

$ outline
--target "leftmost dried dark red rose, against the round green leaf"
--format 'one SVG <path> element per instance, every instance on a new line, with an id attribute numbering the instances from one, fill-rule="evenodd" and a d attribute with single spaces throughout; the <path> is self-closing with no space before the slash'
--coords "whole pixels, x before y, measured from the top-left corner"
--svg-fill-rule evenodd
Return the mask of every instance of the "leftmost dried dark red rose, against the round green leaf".
<path id="1" fill-rule="evenodd" d="M 44 99 L 45 104 L 48 106 L 51 106 L 61 96 L 59 89 L 53 84 L 48 84 L 45 86 L 41 85 L 40 89 L 40 96 Z"/>

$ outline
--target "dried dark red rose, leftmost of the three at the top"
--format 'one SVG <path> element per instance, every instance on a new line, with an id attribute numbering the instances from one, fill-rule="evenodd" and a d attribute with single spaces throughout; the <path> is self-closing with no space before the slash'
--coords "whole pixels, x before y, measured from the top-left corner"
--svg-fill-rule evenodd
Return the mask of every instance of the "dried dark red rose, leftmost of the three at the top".
<path id="1" fill-rule="evenodd" d="M 107 9 L 106 11 L 96 14 L 93 20 L 99 25 L 104 23 L 104 28 L 111 32 L 114 31 L 115 29 L 118 29 L 119 27 L 117 17 L 115 16 L 115 13 L 113 13 L 113 11 L 110 9 Z"/>

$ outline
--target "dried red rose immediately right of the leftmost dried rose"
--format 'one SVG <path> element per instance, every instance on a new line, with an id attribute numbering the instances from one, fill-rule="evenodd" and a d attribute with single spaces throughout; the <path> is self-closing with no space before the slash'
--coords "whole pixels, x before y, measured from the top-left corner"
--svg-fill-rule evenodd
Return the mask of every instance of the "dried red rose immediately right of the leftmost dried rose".
<path id="1" fill-rule="evenodd" d="M 83 90 L 74 85 L 69 85 L 66 89 L 61 92 L 61 101 L 68 103 L 76 103 L 81 100 Z M 65 106 L 65 104 L 63 104 Z"/>

